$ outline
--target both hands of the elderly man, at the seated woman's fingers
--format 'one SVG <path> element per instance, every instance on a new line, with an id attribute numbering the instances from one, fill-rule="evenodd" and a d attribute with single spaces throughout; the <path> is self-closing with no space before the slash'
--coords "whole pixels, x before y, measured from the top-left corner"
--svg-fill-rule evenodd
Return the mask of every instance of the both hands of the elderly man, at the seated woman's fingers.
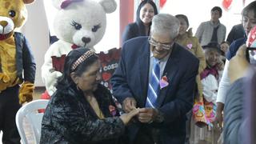
<path id="1" fill-rule="evenodd" d="M 154 122 L 154 119 L 158 116 L 158 110 L 154 108 L 136 108 L 137 102 L 134 98 L 126 98 L 122 102 L 122 109 L 126 113 L 130 113 L 133 110 L 138 110 L 136 114 L 138 121 L 142 123 L 151 123 Z"/>

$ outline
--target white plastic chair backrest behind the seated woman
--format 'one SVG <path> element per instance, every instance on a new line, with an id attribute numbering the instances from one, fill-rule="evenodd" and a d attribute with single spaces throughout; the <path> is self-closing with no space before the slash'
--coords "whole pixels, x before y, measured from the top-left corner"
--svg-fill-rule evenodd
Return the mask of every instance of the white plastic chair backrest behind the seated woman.
<path id="1" fill-rule="evenodd" d="M 46 99 L 39 99 L 34 100 L 32 102 L 26 103 L 22 106 L 17 114 L 16 114 L 16 125 L 18 128 L 18 133 L 22 138 L 22 143 L 27 144 L 28 140 L 26 139 L 26 134 L 24 131 L 23 120 L 26 118 L 27 122 L 29 122 L 32 133 L 34 137 L 35 143 L 40 142 L 40 135 L 41 135 L 41 123 L 42 123 L 42 116 L 43 113 L 38 112 L 40 109 L 46 109 L 49 100 Z"/>

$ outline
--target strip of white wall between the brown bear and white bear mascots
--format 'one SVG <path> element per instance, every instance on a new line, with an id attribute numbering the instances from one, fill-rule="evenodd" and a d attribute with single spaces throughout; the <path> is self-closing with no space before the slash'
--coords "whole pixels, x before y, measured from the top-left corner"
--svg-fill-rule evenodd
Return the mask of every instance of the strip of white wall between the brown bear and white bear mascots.
<path id="1" fill-rule="evenodd" d="M 49 0 L 47 0 L 49 1 Z M 22 33 L 30 42 L 35 62 L 37 64 L 35 86 L 44 86 L 41 78 L 41 66 L 44 62 L 44 54 L 49 47 L 49 29 L 46 13 L 42 0 L 27 5 L 28 19 L 22 27 Z"/>

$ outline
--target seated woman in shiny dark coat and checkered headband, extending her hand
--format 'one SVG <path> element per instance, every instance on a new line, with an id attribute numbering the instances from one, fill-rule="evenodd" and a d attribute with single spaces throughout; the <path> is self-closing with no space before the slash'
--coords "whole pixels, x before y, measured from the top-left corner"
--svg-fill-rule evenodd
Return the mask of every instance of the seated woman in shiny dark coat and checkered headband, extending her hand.
<path id="1" fill-rule="evenodd" d="M 99 84 L 100 79 L 100 63 L 93 51 L 70 51 L 42 118 L 40 143 L 120 143 L 125 125 L 138 110 L 118 117 L 111 94 Z"/>

